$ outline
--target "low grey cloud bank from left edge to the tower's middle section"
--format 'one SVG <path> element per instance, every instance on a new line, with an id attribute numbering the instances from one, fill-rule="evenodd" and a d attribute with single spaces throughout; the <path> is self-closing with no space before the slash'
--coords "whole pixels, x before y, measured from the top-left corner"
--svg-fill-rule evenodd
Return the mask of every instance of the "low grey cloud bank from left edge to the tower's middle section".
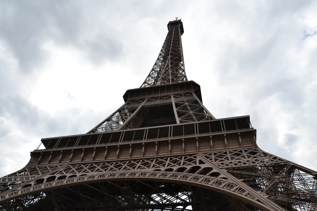
<path id="1" fill-rule="evenodd" d="M 95 124 L 91 118 L 99 116 L 91 110 L 72 108 L 52 117 L 20 96 L 0 97 L 0 102 L 2 104 L 0 109 L 2 124 L 10 119 L 15 122 L 18 131 L 40 138 L 85 133 L 89 127 L 93 127 Z M 84 119 L 85 121 L 83 121 Z"/>

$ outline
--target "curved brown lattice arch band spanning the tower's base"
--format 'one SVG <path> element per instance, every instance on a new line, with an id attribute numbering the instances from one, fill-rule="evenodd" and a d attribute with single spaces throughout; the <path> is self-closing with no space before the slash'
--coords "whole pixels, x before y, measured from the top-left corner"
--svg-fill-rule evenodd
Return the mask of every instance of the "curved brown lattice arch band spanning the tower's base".
<path id="1" fill-rule="evenodd" d="M 46 179 L 46 178 L 45 178 Z M 36 184 L 33 181 L 32 186 L 24 185 L 21 189 L 15 189 L 10 193 L 0 196 L 0 203 L 8 202 L 10 200 L 18 199 L 23 196 L 40 193 L 43 191 L 60 189 L 63 187 L 70 187 L 81 184 L 90 184 L 98 182 L 110 181 L 161 181 L 169 183 L 178 183 L 209 189 L 218 193 L 232 196 L 236 199 L 247 202 L 262 210 L 272 210 L 272 207 L 262 203 L 259 196 L 251 194 L 247 189 L 241 185 L 217 177 L 210 177 L 204 175 L 196 175 L 181 172 L 165 172 L 165 171 L 125 171 L 125 172 L 108 172 L 90 175 L 81 175 L 78 177 L 65 178 L 54 181 L 45 180 L 44 183 Z M 282 210 L 276 209 L 275 210 Z"/>

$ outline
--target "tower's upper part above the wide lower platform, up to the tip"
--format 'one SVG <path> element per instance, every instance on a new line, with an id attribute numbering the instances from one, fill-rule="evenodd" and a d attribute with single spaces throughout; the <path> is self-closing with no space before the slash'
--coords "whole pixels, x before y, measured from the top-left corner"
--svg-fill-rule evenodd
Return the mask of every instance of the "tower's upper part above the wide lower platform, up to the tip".
<path id="1" fill-rule="evenodd" d="M 127 90 L 125 104 L 87 133 L 216 119 L 203 105 L 200 86 L 188 81 L 181 19 L 167 24 L 158 59 L 140 88 Z"/>

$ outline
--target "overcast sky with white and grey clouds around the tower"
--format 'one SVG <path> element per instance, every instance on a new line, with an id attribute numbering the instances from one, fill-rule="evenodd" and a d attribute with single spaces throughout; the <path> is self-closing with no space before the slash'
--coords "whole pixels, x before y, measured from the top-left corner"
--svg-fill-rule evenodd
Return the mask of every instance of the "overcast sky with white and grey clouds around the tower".
<path id="1" fill-rule="evenodd" d="M 0 176 L 86 133 L 139 87 L 181 18 L 187 77 L 217 118 L 317 170 L 317 1 L 0 1 Z"/>

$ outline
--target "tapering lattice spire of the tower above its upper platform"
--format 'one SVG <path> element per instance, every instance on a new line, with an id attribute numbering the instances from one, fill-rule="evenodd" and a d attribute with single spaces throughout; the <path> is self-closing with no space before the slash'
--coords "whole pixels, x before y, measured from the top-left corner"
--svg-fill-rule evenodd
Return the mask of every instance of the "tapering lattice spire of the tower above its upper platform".
<path id="1" fill-rule="evenodd" d="M 159 56 L 140 88 L 187 81 L 181 38 L 184 34 L 183 22 L 181 19 L 170 21 L 167 28 Z"/>

